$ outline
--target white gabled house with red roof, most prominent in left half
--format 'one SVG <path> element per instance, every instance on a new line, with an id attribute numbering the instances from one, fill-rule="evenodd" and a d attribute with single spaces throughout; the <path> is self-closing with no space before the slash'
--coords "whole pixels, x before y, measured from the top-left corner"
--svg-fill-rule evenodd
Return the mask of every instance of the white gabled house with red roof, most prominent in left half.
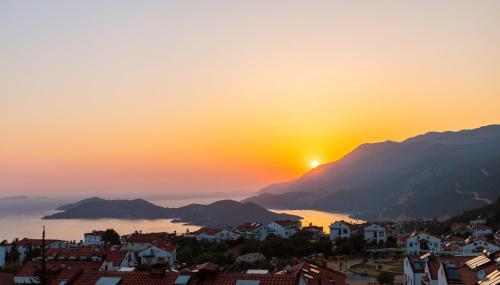
<path id="1" fill-rule="evenodd" d="M 158 241 L 138 253 L 141 264 L 154 265 L 159 263 L 173 266 L 176 261 L 176 247 L 170 242 Z"/>

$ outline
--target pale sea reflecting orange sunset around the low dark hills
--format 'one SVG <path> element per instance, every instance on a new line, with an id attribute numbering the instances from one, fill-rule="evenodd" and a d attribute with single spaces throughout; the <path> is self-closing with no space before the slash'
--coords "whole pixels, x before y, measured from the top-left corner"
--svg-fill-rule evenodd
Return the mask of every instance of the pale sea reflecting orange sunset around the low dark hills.
<path id="1" fill-rule="evenodd" d="M 243 200 L 245 197 L 233 196 L 225 199 Z M 176 198 L 176 199 L 147 199 L 151 203 L 163 207 L 180 207 L 192 203 L 210 204 L 224 198 Z M 198 226 L 173 223 L 172 219 L 160 220 L 119 220 L 119 219 L 71 219 L 71 220 L 42 220 L 41 217 L 53 214 L 58 206 L 78 200 L 61 198 L 26 198 L 13 197 L 0 199 L 0 241 L 12 241 L 15 238 L 41 238 L 42 228 L 46 229 L 46 237 L 50 239 L 61 239 L 67 241 L 80 241 L 83 234 L 92 230 L 103 230 L 112 228 L 119 234 L 128 234 L 135 231 L 142 232 L 177 232 L 185 233 L 187 230 L 194 231 Z M 314 210 L 275 210 L 277 213 L 288 213 L 301 216 L 302 225 L 313 224 L 322 226 L 326 233 L 328 226 L 340 220 L 352 223 L 362 222 L 354 220 L 346 213 L 330 213 Z"/>

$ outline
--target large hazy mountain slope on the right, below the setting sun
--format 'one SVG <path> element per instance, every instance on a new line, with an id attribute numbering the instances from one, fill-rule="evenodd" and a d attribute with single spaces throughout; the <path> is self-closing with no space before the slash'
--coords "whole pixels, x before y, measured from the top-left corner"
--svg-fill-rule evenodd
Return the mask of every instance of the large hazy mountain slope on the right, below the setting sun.
<path id="1" fill-rule="evenodd" d="M 363 144 L 243 202 L 352 212 L 366 219 L 448 218 L 498 195 L 500 125 L 490 125 Z"/>

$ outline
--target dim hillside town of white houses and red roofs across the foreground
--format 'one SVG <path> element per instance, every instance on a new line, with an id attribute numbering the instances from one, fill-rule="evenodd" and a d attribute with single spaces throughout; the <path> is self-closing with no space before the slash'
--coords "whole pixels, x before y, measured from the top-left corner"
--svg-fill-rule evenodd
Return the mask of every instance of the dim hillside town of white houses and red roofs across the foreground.
<path id="1" fill-rule="evenodd" d="M 78 242 L 22 238 L 0 244 L 0 284 L 493 285 L 495 227 L 482 217 L 449 225 L 335 221 L 327 235 L 286 220 L 185 233 L 94 230 Z"/>

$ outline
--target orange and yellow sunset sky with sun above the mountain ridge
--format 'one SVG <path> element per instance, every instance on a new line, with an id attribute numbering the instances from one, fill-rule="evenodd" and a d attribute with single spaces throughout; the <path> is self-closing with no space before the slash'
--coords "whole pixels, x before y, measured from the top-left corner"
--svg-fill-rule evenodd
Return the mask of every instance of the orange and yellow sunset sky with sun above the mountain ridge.
<path id="1" fill-rule="evenodd" d="M 500 123 L 500 1 L 0 1 L 0 196 L 257 191 Z"/>

